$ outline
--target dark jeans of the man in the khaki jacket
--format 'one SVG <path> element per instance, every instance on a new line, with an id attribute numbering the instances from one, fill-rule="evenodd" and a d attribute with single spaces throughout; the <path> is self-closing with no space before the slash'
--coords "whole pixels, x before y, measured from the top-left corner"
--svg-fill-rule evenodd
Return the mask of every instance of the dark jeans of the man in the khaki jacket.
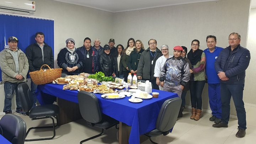
<path id="1" fill-rule="evenodd" d="M 11 100 L 12 100 L 12 94 L 16 93 L 16 112 L 21 111 L 21 103 L 20 98 L 18 97 L 18 87 L 19 83 L 12 83 L 6 81 L 4 83 L 4 91 L 5 91 L 5 101 L 4 101 L 4 110 L 3 112 L 11 111 Z"/>

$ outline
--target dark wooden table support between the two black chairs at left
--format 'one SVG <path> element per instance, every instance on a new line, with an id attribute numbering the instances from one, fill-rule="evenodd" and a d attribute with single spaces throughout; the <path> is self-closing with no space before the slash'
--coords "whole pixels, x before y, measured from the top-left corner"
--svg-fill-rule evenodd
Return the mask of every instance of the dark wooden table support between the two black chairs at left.
<path id="1" fill-rule="evenodd" d="M 59 106 L 58 126 L 81 119 L 78 103 L 57 97 Z"/>

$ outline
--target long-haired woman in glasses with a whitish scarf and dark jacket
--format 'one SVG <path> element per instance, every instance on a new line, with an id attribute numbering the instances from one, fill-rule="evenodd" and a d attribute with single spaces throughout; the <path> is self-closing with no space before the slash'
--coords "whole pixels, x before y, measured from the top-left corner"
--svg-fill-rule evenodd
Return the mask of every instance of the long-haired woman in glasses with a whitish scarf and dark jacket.
<path id="1" fill-rule="evenodd" d="M 133 38 L 129 38 L 127 42 L 127 47 L 126 49 L 123 50 L 122 64 L 123 64 L 124 81 L 126 82 L 127 82 L 127 77 L 130 73 L 128 68 L 128 58 L 130 56 L 130 53 L 135 48 L 134 44 L 135 44 L 135 40 Z"/>

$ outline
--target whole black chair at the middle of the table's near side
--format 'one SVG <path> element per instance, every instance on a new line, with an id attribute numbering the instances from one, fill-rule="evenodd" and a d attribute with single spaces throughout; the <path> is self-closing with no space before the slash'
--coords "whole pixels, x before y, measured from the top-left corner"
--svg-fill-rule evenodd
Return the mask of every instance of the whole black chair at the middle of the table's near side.
<path id="1" fill-rule="evenodd" d="M 79 91 L 78 104 L 82 118 L 87 121 L 87 124 L 91 127 L 98 127 L 102 129 L 100 134 L 82 140 L 80 144 L 88 140 L 100 137 L 104 129 L 111 128 L 119 123 L 116 119 L 113 119 L 101 112 L 98 98 L 90 92 Z"/>

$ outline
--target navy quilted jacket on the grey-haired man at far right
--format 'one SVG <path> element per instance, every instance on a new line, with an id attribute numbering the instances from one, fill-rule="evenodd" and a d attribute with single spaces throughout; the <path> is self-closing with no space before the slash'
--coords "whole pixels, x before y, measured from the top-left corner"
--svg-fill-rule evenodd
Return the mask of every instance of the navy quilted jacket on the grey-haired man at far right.
<path id="1" fill-rule="evenodd" d="M 219 71 L 224 71 L 226 77 L 229 78 L 229 80 L 220 80 L 220 82 L 227 84 L 244 84 L 245 70 L 249 66 L 251 59 L 250 51 L 241 47 L 239 44 L 238 47 L 236 47 L 231 53 L 230 52 L 230 46 L 224 48 L 214 63 L 217 73 Z M 229 55 L 230 59 L 228 61 Z M 227 65 L 227 70 L 224 70 L 225 65 Z"/>

